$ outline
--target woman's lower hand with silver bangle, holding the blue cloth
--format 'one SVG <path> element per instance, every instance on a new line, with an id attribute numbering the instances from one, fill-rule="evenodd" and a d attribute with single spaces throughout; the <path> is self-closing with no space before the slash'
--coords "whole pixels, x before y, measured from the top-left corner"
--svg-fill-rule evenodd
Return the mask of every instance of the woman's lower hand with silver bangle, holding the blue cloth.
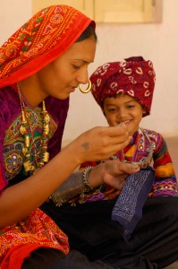
<path id="1" fill-rule="evenodd" d="M 100 163 L 89 172 L 89 185 L 98 187 L 104 183 L 122 190 L 125 179 L 140 171 L 137 164 L 126 163 L 122 161 L 106 161 Z"/>

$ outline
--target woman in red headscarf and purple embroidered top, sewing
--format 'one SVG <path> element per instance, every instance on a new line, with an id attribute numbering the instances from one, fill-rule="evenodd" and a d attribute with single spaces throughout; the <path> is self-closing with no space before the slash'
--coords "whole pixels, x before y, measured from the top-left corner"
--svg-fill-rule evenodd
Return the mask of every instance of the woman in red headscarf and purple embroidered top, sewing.
<path id="1" fill-rule="evenodd" d="M 69 253 L 67 236 L 38 209 L 81 162 L 106 159 L 130 141 L 124 125 L 95 127 L 60 152 L 68 98 L 89 80 L 96 39 L 95 23 L 88 17 L 70 6 L 53 5 L 0 48 L 2 269 L 111 268 Z M 104 182 L 120 188 L 126 175 L 138 170 L 109 162 L 67 182 L 77 182 L 81 193 Z"/>

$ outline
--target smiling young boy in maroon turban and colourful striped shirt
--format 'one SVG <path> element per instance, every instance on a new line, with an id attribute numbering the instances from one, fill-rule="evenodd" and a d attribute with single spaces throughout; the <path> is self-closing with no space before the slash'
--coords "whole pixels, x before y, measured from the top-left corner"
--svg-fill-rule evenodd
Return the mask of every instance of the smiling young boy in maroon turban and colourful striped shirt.
<path id="1" fill-rule="evenodd" d="M 165 139 L 155 131 L 140 127 L 142 117 L 150 114 L 155 80 L 152 62 L 145 61 L 141 56 L 130 57 L 123 62 L 106 63 L 97 67 L 90 76 L 93 97 L 108 125 L 125 123 L 132 136 L 131 143 L 123 151 L 117 152 L 114 158 L 137 162 L 142 168 L 148 164 L 153 166 L 156 176 L 149 197 L 174 196 L 178 195 L 178 186 Z M 109 195 L 107 192 L 104 194 L 102 197 L 105 199 L 106 196 L 111 198 L 118 195 L 118 192 L 109 189 Z M 96 199 L 98 196 L 101 197 L 101 194 L 97 193 Z M 93 201 L 94 196 L 90 198 Z"/>

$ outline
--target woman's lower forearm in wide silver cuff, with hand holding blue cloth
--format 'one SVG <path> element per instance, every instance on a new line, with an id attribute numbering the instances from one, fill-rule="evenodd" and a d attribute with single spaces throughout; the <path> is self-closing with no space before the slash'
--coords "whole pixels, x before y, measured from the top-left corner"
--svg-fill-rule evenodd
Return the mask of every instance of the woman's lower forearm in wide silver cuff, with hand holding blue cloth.
<path id="1" fill-rule="evenodd" d="M 78 195 L 92 192 L 96 187 L 100 187 L 105 183 L 122 190 L 125 178 L 132 173 L 138 172 L 140 167 L 121 161 L 106 161 L 95 167 L 89 166 L 86 169 L 88 169 L 86 174 L 85 170 L 73 172 L 50 196 L 57 206 L 69 202 Z"/>

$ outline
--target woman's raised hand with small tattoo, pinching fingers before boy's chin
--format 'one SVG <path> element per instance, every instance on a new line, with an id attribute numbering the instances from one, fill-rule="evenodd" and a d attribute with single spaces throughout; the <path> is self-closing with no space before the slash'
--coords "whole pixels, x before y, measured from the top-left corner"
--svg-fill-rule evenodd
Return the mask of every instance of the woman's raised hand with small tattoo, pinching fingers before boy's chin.
<path id="1" fill-rule="evenodd" d="M 127 126 L 122 124 L 112 127 L 94 127 L 81 134 L 66 148 L 71 147 L 72 153 L 76 154 L 81 164 L 84 161 L 106 160 L 130 142 Z"/>

